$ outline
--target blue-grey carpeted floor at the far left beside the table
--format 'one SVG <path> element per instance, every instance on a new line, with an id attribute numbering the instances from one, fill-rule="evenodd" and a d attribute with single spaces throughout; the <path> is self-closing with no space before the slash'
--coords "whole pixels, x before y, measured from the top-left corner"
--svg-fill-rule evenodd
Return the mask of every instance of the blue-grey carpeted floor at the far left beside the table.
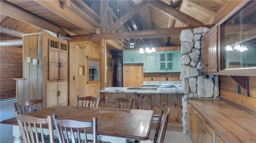
<path id="1" fill-rule="evenodd" d="M 0 104 L 0 120 L 15 117 L 14 102 L 5 102 Z M 13 143 L 14 137 L 12 135 L 12 125 L 0 124 L 0 143 Z"/>

